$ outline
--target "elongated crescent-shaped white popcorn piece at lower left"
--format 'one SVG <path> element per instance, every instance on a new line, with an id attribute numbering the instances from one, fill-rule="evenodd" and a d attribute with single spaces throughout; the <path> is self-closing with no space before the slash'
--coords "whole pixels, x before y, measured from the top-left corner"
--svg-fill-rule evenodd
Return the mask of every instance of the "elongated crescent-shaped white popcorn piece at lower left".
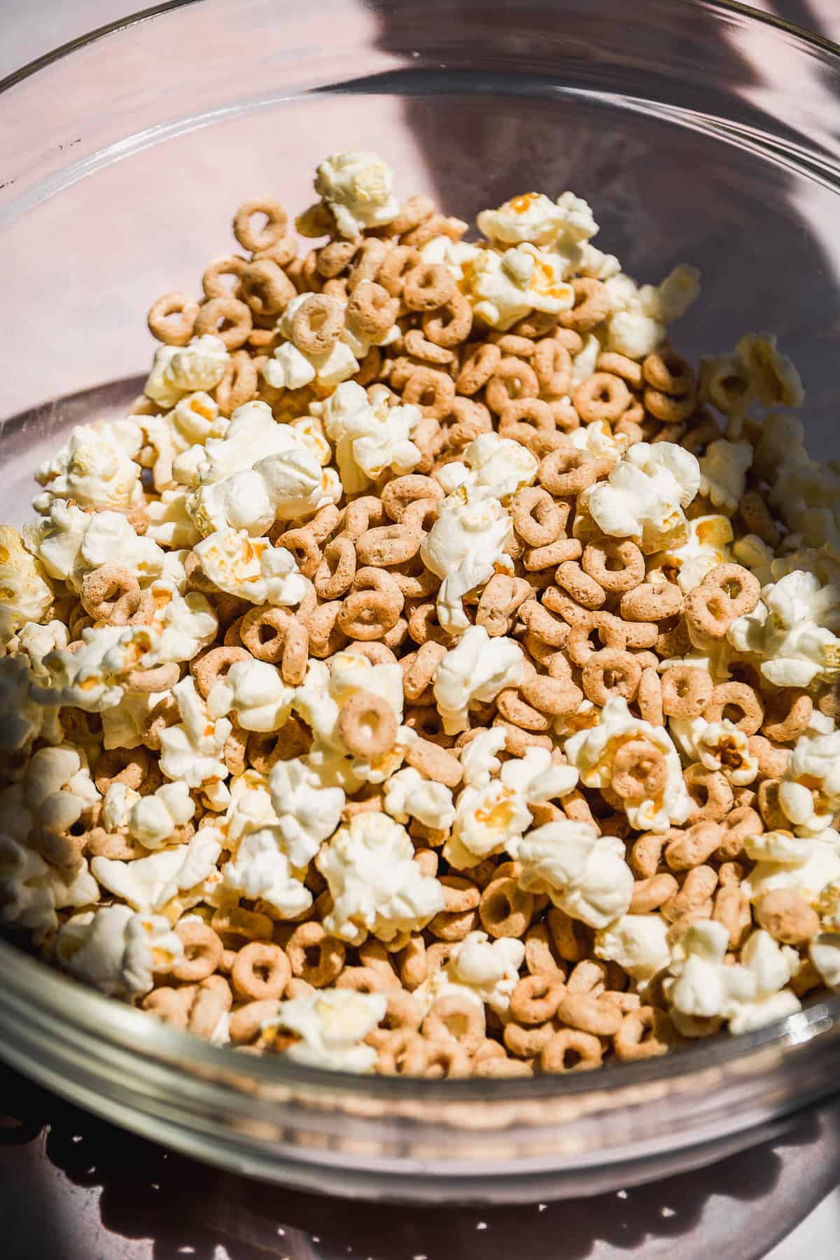
<path id="1" fill-rule="evenodd" d="M 154 912 L 162 911 L 179 893 L 201 885 L 215 871 L 220 854 L 219 833 L 203 827 L 189 844 L 156 849 L 133 862 L 96 857 L 91 871 L 105 888 L 133 910 Z"/>

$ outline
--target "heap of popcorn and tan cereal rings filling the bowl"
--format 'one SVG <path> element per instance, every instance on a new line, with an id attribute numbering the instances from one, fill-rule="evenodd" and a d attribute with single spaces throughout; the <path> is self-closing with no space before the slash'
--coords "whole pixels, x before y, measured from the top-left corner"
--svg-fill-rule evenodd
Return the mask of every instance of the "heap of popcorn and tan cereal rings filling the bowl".
<path id="1" fill-rule="evenodd" d="M 317 168 L 0 530 L 0 922 L 165 1023 L 529 1076 L 840 985 L 840 465 L 572 193 Z"/>

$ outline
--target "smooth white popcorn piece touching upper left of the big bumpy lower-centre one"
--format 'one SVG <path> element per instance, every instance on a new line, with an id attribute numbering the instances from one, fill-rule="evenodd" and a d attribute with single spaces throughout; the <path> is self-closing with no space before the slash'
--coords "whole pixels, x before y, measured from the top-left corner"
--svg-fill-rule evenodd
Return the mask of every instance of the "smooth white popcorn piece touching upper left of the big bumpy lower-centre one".
<path id="1" fill-rule="evenodd" d="M 278 761 L 268 782 L 283 852 L 293 867 L 305 867 L 341 822 L 344 789 L 324 786 L 305 757 Z"/>

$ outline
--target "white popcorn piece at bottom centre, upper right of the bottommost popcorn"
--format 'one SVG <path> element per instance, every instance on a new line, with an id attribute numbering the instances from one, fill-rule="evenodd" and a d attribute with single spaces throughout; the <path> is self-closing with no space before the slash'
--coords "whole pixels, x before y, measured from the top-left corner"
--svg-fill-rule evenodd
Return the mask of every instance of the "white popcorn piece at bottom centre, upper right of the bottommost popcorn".
<path id="1" fill-rule="evenodd" d="M 523 941 L 511 936 L 490 940 L 486 932 L 468 932 L 452 946 L 446 965 L 414 989 L 414 998 L 429 1011 L 438 998 L 462 994 L 480 1011 L 486 1003 L 504 1021 L 524 960 Z"/>

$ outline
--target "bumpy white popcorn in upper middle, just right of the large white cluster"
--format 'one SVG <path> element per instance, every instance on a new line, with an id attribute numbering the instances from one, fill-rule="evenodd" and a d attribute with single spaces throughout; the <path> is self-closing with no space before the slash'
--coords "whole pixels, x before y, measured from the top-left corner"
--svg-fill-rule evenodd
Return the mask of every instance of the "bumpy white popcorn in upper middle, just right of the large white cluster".
<path id="1" fill-rule="evenodd" d="M 403 476 L 421 462 L 411 435 L 422 412 L 411 404 L 393 407 L 384 387 L 368 398 L 361 386 L 348 381 L 325 402 L 311 403 L 310 410 L 335 442 L 335 461 L 348 494 L 368 489 L 387 470 Z"/>

